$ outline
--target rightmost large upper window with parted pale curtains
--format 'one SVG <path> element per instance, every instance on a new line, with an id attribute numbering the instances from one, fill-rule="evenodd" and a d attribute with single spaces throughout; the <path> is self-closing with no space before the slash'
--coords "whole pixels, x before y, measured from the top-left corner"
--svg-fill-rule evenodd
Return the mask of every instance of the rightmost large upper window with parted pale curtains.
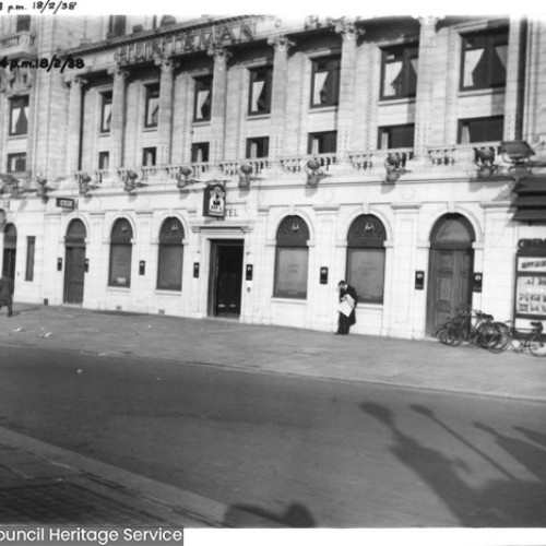
<path id="1" fill-rule="evenodd" d="M 508 29 L 465 34 L 461 90 L 503 87 L 507 81 Z"/>

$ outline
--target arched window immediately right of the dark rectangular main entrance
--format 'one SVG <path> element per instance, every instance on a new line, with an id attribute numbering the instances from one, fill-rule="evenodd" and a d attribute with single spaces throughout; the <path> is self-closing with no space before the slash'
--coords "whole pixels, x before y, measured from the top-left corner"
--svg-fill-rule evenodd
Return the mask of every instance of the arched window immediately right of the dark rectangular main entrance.
<path id="1" fill-rule="evenodd" d="M 307 297 L 309 227 L 300 216 L 286 216 L 276 234 L 275 287 L 273 296 Z"/>

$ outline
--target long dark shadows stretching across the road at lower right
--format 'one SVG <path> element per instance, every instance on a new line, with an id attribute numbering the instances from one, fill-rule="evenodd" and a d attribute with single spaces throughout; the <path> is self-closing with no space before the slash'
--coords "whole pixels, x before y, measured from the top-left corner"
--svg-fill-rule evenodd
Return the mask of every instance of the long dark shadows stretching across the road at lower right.
<path id="1" fill-rule="evenodd" d="M 456 517 L 461 526 L 539 527 L 546 524 L 544 510 L 537 508 L 546 505 L 546 488 L 543 483 L 517 478 L 487 453 L 449 428 L 426 406 L 412 405 L 411 408 L 455 437 L 503 476 L 501 479 L 489 480 L 483 487 L 470 486 L 462 477 L 464 473 L 472 472 L 465 461 L 424 446 L 405 434 L 397 426 L 395 415 L 389 407 L 369 402 L 360 404 L 363 412 L 390 429 L 393 438 L 390 451 L 393 455 L 435 491 L 443 505 Z M 485 425 L 480 425 L 480 427 L 490 434 L 494 432 L 490 427 Z M 531 466 L 530 460 L 532 460 L 532 468 L 530 470 L 534 470 L 535 475 L 537 475 L 536 465 L 545 465 L 544 455 L 541 456 L 533 452 L 531 456 L 530 444 L 522 446 L 521 440 L 518 440 L 518 443 L 509 442 L 500 435 L 496 435 L 496 437 L 503 441 L 502 447 L 520 462 L 523 462 L 521 460 L 524 459 Z M 543 471 L 538 477 L 544 482 Z M 423 523 L 427 525 L 427 522 Z"/>

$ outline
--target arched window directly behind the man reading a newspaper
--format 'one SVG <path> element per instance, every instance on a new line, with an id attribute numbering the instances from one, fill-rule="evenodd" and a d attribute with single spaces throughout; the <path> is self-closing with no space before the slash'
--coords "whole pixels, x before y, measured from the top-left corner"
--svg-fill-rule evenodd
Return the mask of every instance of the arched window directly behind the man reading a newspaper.
<path id="1" fill-rule="evenodd" d="M 347 235 L 347 282 L 358 301 L 383 302 L 384 240 L 381 221 L 371 214 L 358 216 Z"/>

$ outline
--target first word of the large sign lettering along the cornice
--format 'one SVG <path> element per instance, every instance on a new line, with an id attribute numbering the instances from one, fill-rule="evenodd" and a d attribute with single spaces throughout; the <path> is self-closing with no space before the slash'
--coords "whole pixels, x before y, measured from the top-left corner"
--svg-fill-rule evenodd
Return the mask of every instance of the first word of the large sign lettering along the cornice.
<path id="1" fill-rule="evenodd" d="M 152 61 L 157 56 L 170 57 L 193 51 L 206 51 L 212 47 L 227 47 L 254 39 L 253 21 L 223 21 L 201 28 L 182 29 L 168 36 L 156 36 L 142 41 L 124 44 L 118 48 L 115 59 L 120 64 Z"/>

